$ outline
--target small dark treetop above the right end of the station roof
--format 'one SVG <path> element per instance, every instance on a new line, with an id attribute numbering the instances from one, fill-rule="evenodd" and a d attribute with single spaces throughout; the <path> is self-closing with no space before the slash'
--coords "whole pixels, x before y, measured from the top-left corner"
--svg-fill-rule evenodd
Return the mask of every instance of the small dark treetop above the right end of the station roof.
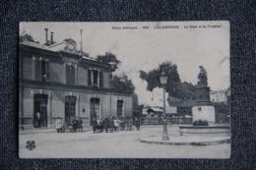
<path id="1" fill-rule="evenodd" d="M 106 52 L 105 55 L 97 55 L 96 60 L 99 62 L 112 63 L 112 72 L 114 72 L 117 69 L 117 66 L 121 63 L 114 54 L 111 52 Z"/>

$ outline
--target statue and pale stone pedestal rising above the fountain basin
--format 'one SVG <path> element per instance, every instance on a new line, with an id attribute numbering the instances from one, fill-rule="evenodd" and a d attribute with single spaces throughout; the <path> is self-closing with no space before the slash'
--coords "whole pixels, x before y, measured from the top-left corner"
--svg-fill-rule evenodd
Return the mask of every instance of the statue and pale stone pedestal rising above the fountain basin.
<path id="1" fill-rule="evenodd" d="M 196 85 L 196 104 L 192 107 L 193 123 L 207 121 L 209 125 L 215 124 L 215 107 L 210 101 L 210 87 L 207 82 L 207 72 L 203 66 L 199 66 L 198 83 Z"/>

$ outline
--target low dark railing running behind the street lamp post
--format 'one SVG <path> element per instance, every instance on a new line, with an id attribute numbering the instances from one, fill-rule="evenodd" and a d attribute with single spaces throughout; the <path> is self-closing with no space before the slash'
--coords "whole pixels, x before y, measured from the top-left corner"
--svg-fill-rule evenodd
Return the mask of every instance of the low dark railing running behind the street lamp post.
<path id="1" fill-rule="evenodd" d="M 168 124 L 192 124 L 192 118 L 166 118 Z M 161 125 L 162 118 L 141 118 L 141 125 Z"/>

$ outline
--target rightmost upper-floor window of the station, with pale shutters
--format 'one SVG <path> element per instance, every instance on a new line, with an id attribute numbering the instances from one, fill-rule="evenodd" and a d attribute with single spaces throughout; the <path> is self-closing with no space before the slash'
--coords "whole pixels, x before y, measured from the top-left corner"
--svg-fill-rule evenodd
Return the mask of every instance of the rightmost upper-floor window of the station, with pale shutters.
<path id="1" fill-rule="evenodd" d="M 89 86 L 103 86 L 103 74 L 96 70 L 88 71 L 88 85 Z"/>

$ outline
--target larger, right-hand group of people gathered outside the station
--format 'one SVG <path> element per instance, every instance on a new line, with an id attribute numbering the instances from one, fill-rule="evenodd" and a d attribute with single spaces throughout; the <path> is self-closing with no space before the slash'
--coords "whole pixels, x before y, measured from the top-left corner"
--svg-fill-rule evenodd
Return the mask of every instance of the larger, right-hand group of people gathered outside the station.
<path id="1" fill-rule="evenodd" d="M 137 131 L 140 130 L 140 121 L 138 118 L 135 118 L 135 126 L 137 128 Z M 124 120 L 118 120 L 115 118 L 107 117 L 105 119 L 96 119 L 93 120 L 93 133 L 102 133 L 105 131 L 105 133 L 112 133 L 114 131 L 124 131 L 124 130 L 132 130 L 133 122 L 132 120 L 126 121 Z"/>

